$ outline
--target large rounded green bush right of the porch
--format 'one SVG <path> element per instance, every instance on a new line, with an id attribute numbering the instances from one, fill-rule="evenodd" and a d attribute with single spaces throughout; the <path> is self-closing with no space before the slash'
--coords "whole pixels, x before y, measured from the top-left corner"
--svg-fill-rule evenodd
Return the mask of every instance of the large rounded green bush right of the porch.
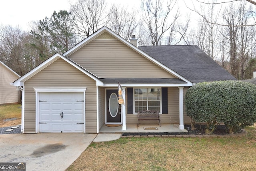
<path id="1" fill-rule="evenodd" d="M 256 122 L 256 85 L 241 81 L 199 83 L 185 97 L 186 113 L 212 133 L 224 123 L 229 133 Z"/>

